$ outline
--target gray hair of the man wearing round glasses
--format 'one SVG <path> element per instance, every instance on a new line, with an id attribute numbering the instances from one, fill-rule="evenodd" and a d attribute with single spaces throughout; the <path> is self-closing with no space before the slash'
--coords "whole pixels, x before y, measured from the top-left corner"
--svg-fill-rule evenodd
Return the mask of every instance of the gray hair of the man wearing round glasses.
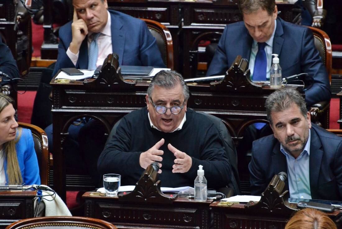
<path id="1" fill-rule="evenodd" d="M 179 74 L 178 72 L 172 71 L 172 70 L 167 70 L 167 71 L 162 70 L 162 71 L 158 72 L 153 77 L 153 80 L 151 81 L 151 83 L 148 86 L 147 95 L 149 98 L 151 98 L 155 85 L 157 85 L 158 87 L 171 89 L 171 88 L 174 88 L 175 86 L 177 86 L 178 84 L 181 84 L 181 86 L 183 88 L 183 95 L 185 98 L 184 101 L 187 101 L 189 99 L 189 96 L 190 96 L 189 88 L 186 85 L 186 82 L 184 81 L 182 75 Z"/>

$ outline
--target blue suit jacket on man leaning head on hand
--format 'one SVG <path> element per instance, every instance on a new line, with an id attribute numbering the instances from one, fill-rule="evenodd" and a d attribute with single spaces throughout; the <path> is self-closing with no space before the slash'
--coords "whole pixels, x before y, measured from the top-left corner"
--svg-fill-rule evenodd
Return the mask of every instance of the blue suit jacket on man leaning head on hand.
<path id="1" fill-rule="evenodd" d="M 109 12 L 111 16 L 111 44 L 113 52 L 119 55 L 120 65 L 166 68 L 158 49 L 156 39 L 149 32 L 144 21 L 114 10 L 109 10 Z M 66 55 L 66 51 L 73 39 L 71 34 L 71 23 L 72 21 L 60 28 L 58 57 L 53 76 L 61 68 L 88 68 L 87 37 L 81 44 L 76 66 Z"/>

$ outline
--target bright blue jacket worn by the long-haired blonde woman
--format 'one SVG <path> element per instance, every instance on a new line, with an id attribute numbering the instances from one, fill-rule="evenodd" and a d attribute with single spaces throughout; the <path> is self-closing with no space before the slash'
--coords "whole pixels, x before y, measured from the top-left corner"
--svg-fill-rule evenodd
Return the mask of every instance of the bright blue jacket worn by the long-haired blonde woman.
<path id="1" fill-rule="evenodd" d="M 22 129 L 20 139 L 15 145 L 15 148 L 17 150 L 18 163 L 23 182 L 26 185 L 40 184 L 39 166 L 31 130 Z M 8 181 L 6 158 L 4 160 L 4 169 L 6 181 Z"/>

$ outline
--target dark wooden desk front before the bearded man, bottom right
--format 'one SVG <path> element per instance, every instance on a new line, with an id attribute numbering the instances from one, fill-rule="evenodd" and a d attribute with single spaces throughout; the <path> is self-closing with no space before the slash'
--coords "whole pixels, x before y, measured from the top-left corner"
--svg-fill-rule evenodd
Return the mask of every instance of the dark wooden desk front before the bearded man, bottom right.
<path id="1" fill-rule="evenodd" d="M 245 204 L 233 204 L 232 206 L 219 206 L 219 202 L 210 204 L 214 215 L 214 229 L 235 229 L 235 228 L 254 228 L 254 229 L 281 229 L 284 228 L 289 221 L 291 215 L 295 212 L 273 214 L 269 212 L 258 213 L 245 208 Z M 291 204 L 296 208 L 295 204 Z M 328 215 L 332 220 L 341 214 L 340 210 L 336 210 Z M 342 228 L 342 227 L 339 227 Z"/>

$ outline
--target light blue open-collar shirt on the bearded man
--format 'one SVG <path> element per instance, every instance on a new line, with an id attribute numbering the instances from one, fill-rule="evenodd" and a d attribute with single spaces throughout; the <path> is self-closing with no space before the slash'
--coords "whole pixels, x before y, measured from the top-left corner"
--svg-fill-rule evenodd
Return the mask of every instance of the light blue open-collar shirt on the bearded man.
<path id="1" fill-rule="evenodd" d="M 311 199 L 309 171 L 310 138 L 311 131 L 309 129 L 309 138 L 304 150 L 296 159 L 280 145 L 280 151 L 286 156 L 287 177 L 291 198 Z"/>

